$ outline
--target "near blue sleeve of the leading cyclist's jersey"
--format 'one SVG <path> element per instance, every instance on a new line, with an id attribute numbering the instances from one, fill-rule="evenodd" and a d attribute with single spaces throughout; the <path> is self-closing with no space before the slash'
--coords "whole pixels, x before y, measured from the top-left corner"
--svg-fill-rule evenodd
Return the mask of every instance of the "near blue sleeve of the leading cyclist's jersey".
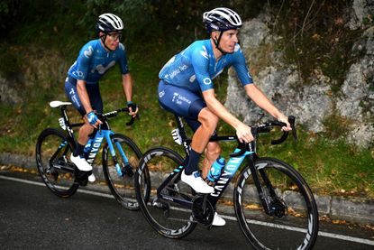
<path id="1" fill-rule="evenodd" d="M 194 67 L 196 80 L 201 91 L 214 88 L 213 81 L 209 75 L 209 57 L 206 48 L 200 47 L 192 52 L 191 64 Z"/>

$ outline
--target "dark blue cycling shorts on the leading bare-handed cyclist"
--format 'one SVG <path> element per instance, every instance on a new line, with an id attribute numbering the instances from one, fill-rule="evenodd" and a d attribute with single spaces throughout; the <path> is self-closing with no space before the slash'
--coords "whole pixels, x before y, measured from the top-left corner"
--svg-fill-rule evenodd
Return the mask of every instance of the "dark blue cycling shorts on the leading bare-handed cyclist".
<path id="1" fill-rule="evenodd" d="M 198 114 L 206 107 L 206 103 L 204 98 L 196 93 L 160 80 L 159 102 L 166 110 L 184 117 L 194 132 L 201 125 L 198 122 Z"/>

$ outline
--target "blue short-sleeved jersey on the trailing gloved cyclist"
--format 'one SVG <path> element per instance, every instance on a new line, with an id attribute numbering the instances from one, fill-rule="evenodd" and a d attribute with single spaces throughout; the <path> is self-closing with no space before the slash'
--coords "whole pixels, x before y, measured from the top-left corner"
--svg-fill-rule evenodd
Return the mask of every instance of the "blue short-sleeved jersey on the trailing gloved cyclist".
<path id="1" fill-rule="evenodd" d="M 92 40 L 79 51 L 78 59 L 68 69 L 68 76 L 85 80 L 88 84 L 97 83 L 116 62 L 123 75 L 129 72 L 126 51 L 122 43 L 115 51 L 108 52 L 100 39 Z"/>

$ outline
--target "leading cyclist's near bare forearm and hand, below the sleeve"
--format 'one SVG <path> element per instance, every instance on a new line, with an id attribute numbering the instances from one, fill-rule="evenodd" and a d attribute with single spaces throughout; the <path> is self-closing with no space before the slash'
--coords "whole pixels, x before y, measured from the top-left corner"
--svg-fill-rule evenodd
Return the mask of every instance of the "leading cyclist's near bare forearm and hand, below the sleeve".
<path id="1" fill-rule="evenodd" d="M 203 97 L 206 106 L 215 116 L 220 117 L 224 122 L 233 126 L 236 130 L 236 135 L 238 135 L 239 141 L 249 143 L 253 140 L 251 128 L 248 125 L 244 125 L 240 120 L 233 116 L 227 108 L 214 97 L 214 88 L 203 91 Z"/>

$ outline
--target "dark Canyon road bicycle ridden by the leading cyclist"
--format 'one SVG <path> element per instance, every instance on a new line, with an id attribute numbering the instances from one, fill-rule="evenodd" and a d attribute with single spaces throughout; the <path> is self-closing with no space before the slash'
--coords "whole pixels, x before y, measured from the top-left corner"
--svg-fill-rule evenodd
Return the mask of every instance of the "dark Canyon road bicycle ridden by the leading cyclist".
<path id="1" fill-rule="evenodd" d="M 191 139 L 187 138 L 181 117 L 176 119 L 178 128 L 173 130 L 173 138 L 183 144 L 187 156 Z M 288 119 L 296 139 L 295 117 Z M 312 191 L 286 162 L 260 157 L 256 152 L 259 134 L 284 125 L 274 121 L 251 126 L 255 140 L 251 144 L 238 141 L 215 182 L 214 192 L 207 195 L 196 194 L 180 181 L 184 158 L 174 150 L 159 146 L 144 153 L 135 173 L 135 190 L 142 214 L 151 227 L 169 238 L 187 236 L 196 223 L 211 228 L 217 201 L 246 159 L 233 192 L 235 215 L 246 239 L 256 249 L 312 248 L 318 234 L 318 211 Z M 284 132 L 271 143 L 281 144 L 287 135 Z M 235 140 L 235 135 L 210 138 L 211 142 Z M 274 241 L 274 236 L 280 239 Z"/>

